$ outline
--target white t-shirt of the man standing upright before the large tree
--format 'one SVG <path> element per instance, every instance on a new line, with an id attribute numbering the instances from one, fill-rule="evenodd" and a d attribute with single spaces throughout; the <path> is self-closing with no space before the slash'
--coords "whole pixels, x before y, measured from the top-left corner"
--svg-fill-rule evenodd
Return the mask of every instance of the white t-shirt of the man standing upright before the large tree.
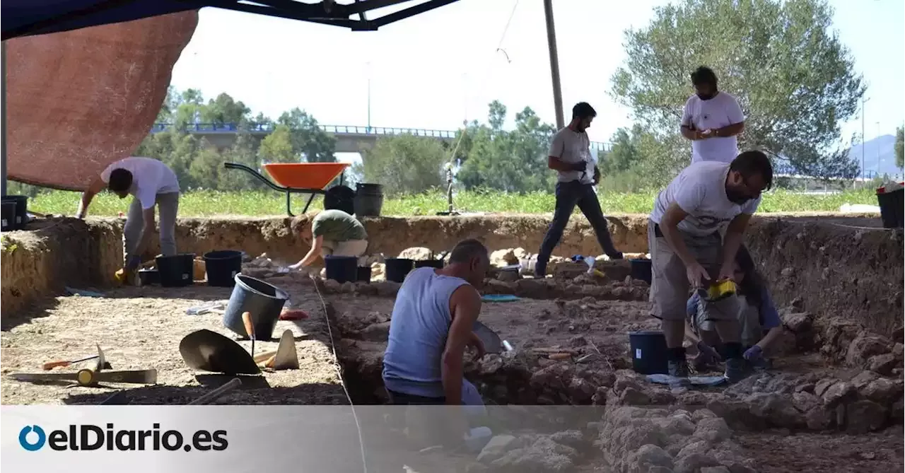
<path id="1" fill-rule="evenodd" d="M 685 112 L 681 118 L 682 126 L 694 125 L 699 131 L 729 127 L 743 121 L 745 114 L 742 113 L 738 100 L 726 92 L 719 92 L 710 100 L 701 100 L 697 95 L 692 95 L 685 102 Z M 712 137 L 691 142 L 692 163 L 699 161 L 731 163 L 736 156 L 738 156 L 737 137 Z"/>

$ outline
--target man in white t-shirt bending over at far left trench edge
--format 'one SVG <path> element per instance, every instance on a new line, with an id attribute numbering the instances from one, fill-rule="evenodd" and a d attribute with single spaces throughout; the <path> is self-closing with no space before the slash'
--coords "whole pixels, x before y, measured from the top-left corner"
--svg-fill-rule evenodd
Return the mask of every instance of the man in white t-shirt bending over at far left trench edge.
<path id="1" fill-rule="evenodd" d="M 141 264 L 154 233 L 154 206 L 160 209 L 160 254 L 176 254 L 176 212 L 179 209 L 179 182 L 169 166 L 150 157 L 131 156 L 107 166 L 81 194 L 78 217 L 84 218 L 91 199 L 104 188 L 125 198 L 134 196 L 123 227 L 123 269 L 131 272 Z"/>

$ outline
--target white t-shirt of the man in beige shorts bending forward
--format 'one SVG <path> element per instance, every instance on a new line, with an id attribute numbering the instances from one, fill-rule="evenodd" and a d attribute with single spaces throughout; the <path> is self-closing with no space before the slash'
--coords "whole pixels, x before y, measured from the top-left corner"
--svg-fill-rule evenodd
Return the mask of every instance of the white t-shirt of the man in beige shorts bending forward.
<path id="1" fill-rule="evenodd" d="M 657 195 L 653 203 L 651 220 L 660 223 L 663 213 L 678 203 L 688 213 L 679 230 L 693 236 L 709 236 L 719 232 L 739 213 L 753 214 L 761 197 L 744 205 L 738 205 L 726 196 L 726 176 L 729 163 L 701 161 L 682 170 L 672 182 Z"/>

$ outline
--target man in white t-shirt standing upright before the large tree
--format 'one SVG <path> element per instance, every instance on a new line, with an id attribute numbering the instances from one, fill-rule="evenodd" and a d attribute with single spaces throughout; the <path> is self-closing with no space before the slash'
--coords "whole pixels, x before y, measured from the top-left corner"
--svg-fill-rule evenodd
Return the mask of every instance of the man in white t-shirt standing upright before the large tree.
<path id="1" fill-rule="evenodd" d="M 738 156 L 738 134 L 745 115 L 738 100 L 717 89 L 717 75 L 701 66 L 691 73 L 695 94 L 685 102 L 681 135 L 691 139 L 691 163 L 729 163 Z"/>

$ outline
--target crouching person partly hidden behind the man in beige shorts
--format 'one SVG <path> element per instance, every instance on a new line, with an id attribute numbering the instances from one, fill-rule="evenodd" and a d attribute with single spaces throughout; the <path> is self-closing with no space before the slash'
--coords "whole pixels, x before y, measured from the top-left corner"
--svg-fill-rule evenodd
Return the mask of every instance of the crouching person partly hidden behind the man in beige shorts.
<path id="1" fill-rule="evenodd" d="M 769 353 L 769 346 L 782 334 L 783 325 L 767 284 L 744 246 L 736 254 L 734 280 L 738 300 L 735 317 L 743 357 L 748 368 L 767 368 L 770 363 L 765 355 Z M 698 371 L 711 371 L 726 357 L 715 321 L 697 292 L 688 299 L 686 309 L 689 325 L 685 327 L 685 337 L 696 344 L 700 352 L 694 359 L 694 367 Z"/>

